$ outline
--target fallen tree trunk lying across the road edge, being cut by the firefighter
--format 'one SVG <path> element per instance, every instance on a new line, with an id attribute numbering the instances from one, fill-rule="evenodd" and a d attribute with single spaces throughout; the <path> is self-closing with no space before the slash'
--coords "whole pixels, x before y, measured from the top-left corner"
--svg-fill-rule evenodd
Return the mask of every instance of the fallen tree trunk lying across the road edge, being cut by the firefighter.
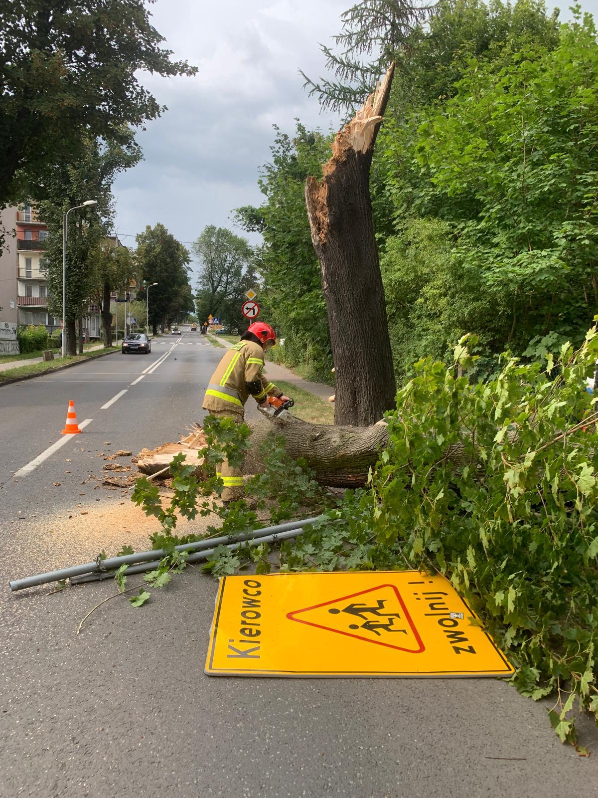
<path id="1" fill-rule="evenodd" d="M 243 472 L 258 474 L 264 470 L 258 448 L 269 434 L 281 435 L 285 449 L 293 460 L 302 457 L 322 485 L 332 488 L 359 488 L 368 480 L 368 471 L 376 464 L 380 450 L 388 443 L 386 425 L 369 427 L 338 427 L 307 424 L 289 417 L 269 421 L 252 421 L 250 449 L 243 463 Z M 137 467 L 144 474 L 155 474 L 166 468 L 175 454 L 184 452 L 187 462 L 197 463 L 201 472 L 202 459 L 198 450 L 205 446 L 201 430 L 180 440 L 140 452 Z"/>

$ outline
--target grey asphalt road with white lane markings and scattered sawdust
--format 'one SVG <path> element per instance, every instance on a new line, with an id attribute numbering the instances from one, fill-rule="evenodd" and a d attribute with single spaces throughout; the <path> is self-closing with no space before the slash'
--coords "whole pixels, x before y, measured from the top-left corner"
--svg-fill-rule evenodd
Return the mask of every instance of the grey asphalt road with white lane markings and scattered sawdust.
<path id="1" fill-rule="evenodd" d="M 0 388 L 0 796 L 598 796 L 595 727 L 580 759 L 502 681 L 208 678 L 216 583 L 197 571 L 79 636 L 112 585 L 10 595 L 7 579 L 143 543 L 139 511 L 93 477 L 201 419 L 222 352 L 186 332 Z M 22 472 L 64 440 L 69 399 L 92 421 Z"/>

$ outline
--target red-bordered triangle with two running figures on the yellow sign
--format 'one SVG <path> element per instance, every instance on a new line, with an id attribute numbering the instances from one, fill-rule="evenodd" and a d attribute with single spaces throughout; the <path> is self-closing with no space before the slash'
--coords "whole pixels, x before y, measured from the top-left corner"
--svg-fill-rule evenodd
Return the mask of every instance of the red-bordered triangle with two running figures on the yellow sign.
<path id="1" fill-rule="evenodd" d="M 409 654 L 421 654 L 425 650 L 407 606 L 394 585 L 370 587 L 367 591 L 293 610 L 286 617 L 289 621 Z"/>

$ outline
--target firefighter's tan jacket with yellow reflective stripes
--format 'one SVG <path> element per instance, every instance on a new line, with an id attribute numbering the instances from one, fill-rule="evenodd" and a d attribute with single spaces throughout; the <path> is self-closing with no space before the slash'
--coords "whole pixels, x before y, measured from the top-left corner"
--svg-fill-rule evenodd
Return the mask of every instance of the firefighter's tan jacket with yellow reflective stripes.
<path id="1" fill-rule="evenodd" d="M 282 396 L 273 382 L 262 377 L 264 367 L 264 351 L 254 341 L 239 341 L 218 364 L 210 378 L 205 397 L 204 410 L 226 410 L 230 413 L 242 413 L 243 406 L 250 393 L 246 382 L 261 382 L 262 390 L 256 395 L 256 401 L 263 401 L 266 396 Z"/>

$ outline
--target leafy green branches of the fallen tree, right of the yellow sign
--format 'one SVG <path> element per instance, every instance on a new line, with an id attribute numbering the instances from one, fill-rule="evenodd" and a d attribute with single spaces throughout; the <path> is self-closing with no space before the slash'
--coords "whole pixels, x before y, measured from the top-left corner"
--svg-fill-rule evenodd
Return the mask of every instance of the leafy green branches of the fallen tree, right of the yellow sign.
<path id="1" fill-rule="evenodd" d="M 598 713 L 598 414 L 586 391 L 596 327 L 577 352 L 565 343 L 544 365 L 504 356 L 476 384 L 474 344 L 463 338 L 449 368 L 419 361 L 397 393 L 365 500 L 372 531 L 447 575 L 517 669 L 517 689 L 557 693 L 550 722 L 576 745 L 573 702 Z"/>

